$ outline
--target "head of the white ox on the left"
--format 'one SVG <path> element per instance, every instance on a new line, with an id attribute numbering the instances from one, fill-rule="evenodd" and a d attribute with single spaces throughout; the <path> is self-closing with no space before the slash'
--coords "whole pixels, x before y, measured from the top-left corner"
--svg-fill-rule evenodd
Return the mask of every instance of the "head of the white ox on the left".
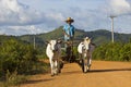
<path id="1" fill-rule="evenodd" d="M 50 40 L 50 41 L 47 41 L 47 44 L 48 44 L 50 50 L 52 50 L 52 52 L 56 52 L 56 51 L 59 50 L 61 42 L 62 42 L 61 40 Z"/>

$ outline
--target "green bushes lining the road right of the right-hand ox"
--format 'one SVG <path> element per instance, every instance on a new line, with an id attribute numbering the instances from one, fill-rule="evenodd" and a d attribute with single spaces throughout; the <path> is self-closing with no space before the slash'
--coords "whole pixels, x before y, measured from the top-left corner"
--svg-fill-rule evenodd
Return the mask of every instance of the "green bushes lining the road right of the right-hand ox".
<path id="1" fill-rule="evenodd" d="M 131 42 L 109 42 L 97 47 L 93 59 L 108 61 L 131 61 Z"/>

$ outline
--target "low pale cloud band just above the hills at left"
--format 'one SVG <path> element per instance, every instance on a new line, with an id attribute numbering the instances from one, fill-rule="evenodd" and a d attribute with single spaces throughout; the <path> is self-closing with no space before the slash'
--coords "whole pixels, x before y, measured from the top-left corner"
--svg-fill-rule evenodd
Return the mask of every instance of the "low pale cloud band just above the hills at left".
<path id="1" fill-rule="evenodd" d="M 33 26 L 33 27 L 32 27 Z M 45 33 L 45 30 L 39 26 L 1 26 L 0 34 L 1 35 L 25 35 L 25 34 L 40 34 Z"/>

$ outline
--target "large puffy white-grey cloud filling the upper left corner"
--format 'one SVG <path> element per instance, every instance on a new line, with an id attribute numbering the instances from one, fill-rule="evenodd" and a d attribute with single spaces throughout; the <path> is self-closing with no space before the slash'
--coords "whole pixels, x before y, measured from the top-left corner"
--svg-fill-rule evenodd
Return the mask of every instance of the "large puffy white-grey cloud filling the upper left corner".
<path id="1" fill-rule="evenodd" d="M 38 24 L 44 15 L 17 0 L 0 0 L 0 25 L 28 25 Z"/>

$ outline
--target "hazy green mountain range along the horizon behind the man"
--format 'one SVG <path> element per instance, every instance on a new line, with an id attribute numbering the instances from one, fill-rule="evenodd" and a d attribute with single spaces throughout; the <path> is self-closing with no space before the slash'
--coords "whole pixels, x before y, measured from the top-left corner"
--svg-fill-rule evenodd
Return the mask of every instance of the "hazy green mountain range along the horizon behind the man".
<path id="1" fill-rule="evenodd" d="M 83 38 L 86 36 L 92 38 L 93 42 L 96 44 L 97 46 L 100 44 L 104 44 L 104 42 L 111 41 L 111 33 L 109 30 L 105 30 L 105 29 L 98 29 L 98 30 L 93 30 L 93 32 L 84 32 L 82 29 L 76 29 L 74 41 L 78 45 L 78 42 L 83 40 Z M 3 37 L 5 37 L 5 36 L 0 36 L 0 41 Z M 8 38 L 9 37 L 13 37 L 13 36 L 8 36 Z M 63 40 L 62 26 L 60 26 L 59 28 L 56 28 L 55 30 L 49 32 L 49 33 L 37 34 L 37 35 L 23 35 L 23 36 L 17 36 L 15 38 L 19 40 L 28 42 L 28 44 L 33 44 L 34 37 L 36 39 L 35 40 L 36 45 L 39 47 L 45 46 L 46 40 L 58 39 L 58 38 Z M 115 41 L 129 42 L 129 41 L 131 41 L 131 34 L 115 33 Z"/>

